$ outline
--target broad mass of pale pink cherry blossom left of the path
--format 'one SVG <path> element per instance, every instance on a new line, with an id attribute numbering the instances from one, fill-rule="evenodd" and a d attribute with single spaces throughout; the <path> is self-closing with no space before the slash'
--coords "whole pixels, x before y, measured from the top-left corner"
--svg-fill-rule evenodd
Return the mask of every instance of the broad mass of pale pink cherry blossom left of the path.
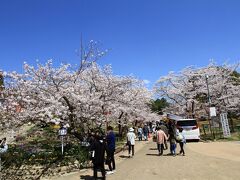
<path id="1" fill-rule="evenodd" d="M 144 120 L 150 113 L 151 93 L 143 81 L 113 75 L 110 66 L 101 68 L 95 61 L 76 69 L 70 64 L 56 68 L 52 61 L 37 67 L 25 63 L 23 74 L 10 72 L 5 80 L 4 127 L 57 118 L 76 133 L 107 122 L 124 124 L 126 118 Z"/>

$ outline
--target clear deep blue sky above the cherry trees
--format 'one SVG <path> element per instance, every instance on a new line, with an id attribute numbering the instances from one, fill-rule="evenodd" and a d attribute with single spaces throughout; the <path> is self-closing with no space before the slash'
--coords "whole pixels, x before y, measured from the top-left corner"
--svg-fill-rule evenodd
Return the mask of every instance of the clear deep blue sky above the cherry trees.
<path id="1" fill-rule="evenodd" d="M 81 34 L 111 49 L 100 64 L 154 83 L 189 65 L 240 59 L 239 0 L 1 0 L 0 69 L 76 64 Z"/>

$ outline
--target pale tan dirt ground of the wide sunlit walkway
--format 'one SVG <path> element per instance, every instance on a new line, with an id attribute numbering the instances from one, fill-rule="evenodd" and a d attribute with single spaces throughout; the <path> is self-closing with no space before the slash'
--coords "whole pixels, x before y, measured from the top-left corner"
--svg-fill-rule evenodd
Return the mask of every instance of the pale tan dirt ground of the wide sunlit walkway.
<path id="1" fill-rule="evenodd" d="M 165 150 L 163 156 L 158 156 L 154 142 L 137 142 L 133 158 L 127 158 L 127 151 L 116 155 L 117 171 L 108 175 L 107 180 L 240 179 L 240 142 L 187 143 L 185 151 L 186 156 L 170 156 L 169 150 Z M 92 170 L 52 179 L 90 180 Z"/>

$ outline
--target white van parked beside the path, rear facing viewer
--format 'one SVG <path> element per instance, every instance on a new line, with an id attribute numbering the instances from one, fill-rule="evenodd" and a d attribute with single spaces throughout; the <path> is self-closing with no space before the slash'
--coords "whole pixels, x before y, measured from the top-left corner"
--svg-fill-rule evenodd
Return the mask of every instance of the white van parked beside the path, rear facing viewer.
<path id="1" fill-rule="evenodd" d="M 183 129 L 183 135 L 186 140 L 200 140 L 200 130 L 196 119 L 177 119 L 176 128 Z"/>

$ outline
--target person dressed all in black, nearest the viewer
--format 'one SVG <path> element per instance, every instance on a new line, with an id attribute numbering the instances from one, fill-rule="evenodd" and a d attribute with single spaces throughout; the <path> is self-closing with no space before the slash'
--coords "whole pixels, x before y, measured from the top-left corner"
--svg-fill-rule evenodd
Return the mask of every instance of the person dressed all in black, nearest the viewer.
<path id="1" fill-rule="evenodd" d="M 93 163 L 93 177 L 97 179 L 97 170 L 100 169 L 102 177 L 106 179 L 106 171 L 104 168 L 104 156 L 106 152 L 106 144 L 103 141 L 103 137 L 99 135 L 99 132 L 95 134 L 95 140 L 90 148 L 92 153 L 92 163 Z"/>

